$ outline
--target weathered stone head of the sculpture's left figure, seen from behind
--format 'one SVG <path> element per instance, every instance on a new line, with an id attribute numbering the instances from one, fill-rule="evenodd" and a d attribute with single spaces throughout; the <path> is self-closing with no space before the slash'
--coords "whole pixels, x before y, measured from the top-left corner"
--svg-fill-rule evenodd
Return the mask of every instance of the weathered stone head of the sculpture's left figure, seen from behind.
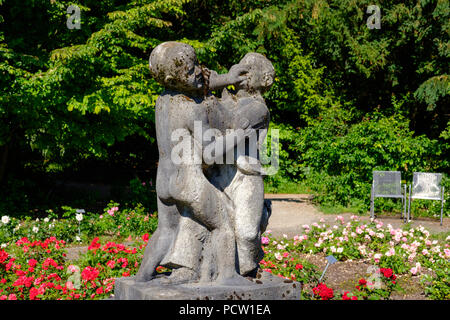
<path id="1" fill-rule="evenodd" d="M 159 83 L 170 89 L 198 91 L 203 77 L 194 48 L 186 43 L 168 41 L 153 49 L 150 72 Z"/>

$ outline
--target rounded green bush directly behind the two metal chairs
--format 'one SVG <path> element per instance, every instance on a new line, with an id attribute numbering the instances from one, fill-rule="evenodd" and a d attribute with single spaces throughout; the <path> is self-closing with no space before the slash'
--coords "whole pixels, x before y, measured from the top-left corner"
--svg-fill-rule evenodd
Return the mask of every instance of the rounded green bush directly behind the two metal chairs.
<path id="1" fill-rule="evenodd" d="M 400 115 L 374 113 L 352 125 L 341 111 L 330 109 L 301 132 L 294 148 L 303 155 L 300 165 L 310 168 L 306 184 L 318 194 L 317 201 L 348 206 L 359 199 L 363 211 L 370 202 L 373 170 L 402 171 L 409 183 L 412 172 L 439 172 L 448 166 L 448 161 L 438 161 L 438 141 L 413 136 Z"/>

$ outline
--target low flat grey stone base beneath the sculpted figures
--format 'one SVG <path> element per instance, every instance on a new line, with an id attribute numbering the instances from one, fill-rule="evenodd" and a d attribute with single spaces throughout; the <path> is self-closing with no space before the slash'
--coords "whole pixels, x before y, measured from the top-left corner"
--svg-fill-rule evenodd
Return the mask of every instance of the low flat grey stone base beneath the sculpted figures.
<path id="1" fill-rule="evenodd" d="M 301 283 L 262 272 L 251 283 L 221 286 L 215 283 L 155 285 L 135 282 L 133 277 L 116 279 L 114 300 L 299 300 Z M 250 278 L 247 278 L 250 279 Z"/>

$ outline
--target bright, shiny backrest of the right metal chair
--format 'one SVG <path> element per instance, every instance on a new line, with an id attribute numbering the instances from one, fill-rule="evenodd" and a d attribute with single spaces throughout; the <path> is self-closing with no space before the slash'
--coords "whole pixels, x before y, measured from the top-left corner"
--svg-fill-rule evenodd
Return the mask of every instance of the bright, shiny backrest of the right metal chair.
<path id="1" fill-rule="evenodd" d="M 411 198 L 441 200 L 441 173 L 414 172 Z"/>

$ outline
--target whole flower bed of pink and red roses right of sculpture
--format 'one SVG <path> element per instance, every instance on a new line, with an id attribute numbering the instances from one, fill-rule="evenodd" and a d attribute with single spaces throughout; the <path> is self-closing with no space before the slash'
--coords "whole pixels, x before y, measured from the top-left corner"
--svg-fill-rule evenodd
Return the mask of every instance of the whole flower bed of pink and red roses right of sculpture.
<path id="1" fill-rule="evenodd" d="M 306 287 L 312 290 L 305 292 L 304 298 L 331 296 L 323 284 L 318 283 L 317 268 L 309 266 L 301 273 L 294 270 L 301 254 L 320 254 L 333 255 L 339 261 L 358 260 L 373 265 L 368 270 L 370 277 L 379 281 L 375 287 L 370 282 L 369 286 L 355 285 L 356 292 L 352 296 L 347 292 L 345 296 L 333 295 L 334 298 L 389 299 L 392 292 L 401 290 L 396 279 L 391 278 L 399 274 L 407 277 L 423 275 L 425 293 L 430 298 L 450 299 L 449 240 L 450 237 L 444 243 L 432 240 L 423 227 L 402 230 L 389 224 L 384 226 L 377 220 L 363 223 L 357 216 L 352 216 L 345 222 L 338 216 L 333 226 L 323 223 L 304 225 L 303 234 L 293 239 L 272 239 L 270 231 L 266 232 L 262 237 L 266 256 L 261 265 L 273 274 L 308 284 Z M 302 265 L 308 264 L 303 261 Z"/>

